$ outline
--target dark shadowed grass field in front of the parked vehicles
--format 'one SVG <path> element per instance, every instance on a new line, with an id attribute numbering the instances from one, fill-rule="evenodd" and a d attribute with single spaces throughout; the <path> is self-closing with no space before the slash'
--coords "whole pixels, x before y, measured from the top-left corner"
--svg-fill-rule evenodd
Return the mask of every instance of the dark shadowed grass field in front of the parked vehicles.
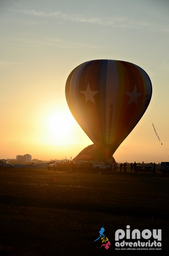
<path id="1" fill-rule="evenodd" d="M 169 175 L 13 168 L 0 177 L 1 255 L 168 255 Z M 93 242 L 102 225 L 108 250 Z M 116 251 L 127 225 L 162 229 L 162 250 Z"/>

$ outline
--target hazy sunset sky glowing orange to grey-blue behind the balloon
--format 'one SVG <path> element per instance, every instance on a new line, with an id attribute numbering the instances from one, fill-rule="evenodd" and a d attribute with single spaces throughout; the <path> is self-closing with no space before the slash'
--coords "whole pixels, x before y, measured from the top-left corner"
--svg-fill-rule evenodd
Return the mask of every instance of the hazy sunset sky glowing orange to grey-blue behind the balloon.
<path id="1" fill-rule="evenodd" d="M 0 0 L 0 44 L 0 158 L 73 158 L 92 144 L 65 83 L 79 64 L 112 59 L 142 67 L 153 88 L 115 160 L 169 161 L 168 0 Z"/>

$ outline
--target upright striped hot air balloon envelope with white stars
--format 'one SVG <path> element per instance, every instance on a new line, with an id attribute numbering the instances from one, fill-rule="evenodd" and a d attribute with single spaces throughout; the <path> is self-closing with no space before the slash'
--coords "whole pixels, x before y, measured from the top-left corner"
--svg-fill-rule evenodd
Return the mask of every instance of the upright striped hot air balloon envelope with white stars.
<path id="1" fill-rule="evenodd" d="M 77 123 L 110 158 L 143 116 L 152 85 L 147 73 L 133 63 L 91 60 L 73 69 L 65 94 Z"/>

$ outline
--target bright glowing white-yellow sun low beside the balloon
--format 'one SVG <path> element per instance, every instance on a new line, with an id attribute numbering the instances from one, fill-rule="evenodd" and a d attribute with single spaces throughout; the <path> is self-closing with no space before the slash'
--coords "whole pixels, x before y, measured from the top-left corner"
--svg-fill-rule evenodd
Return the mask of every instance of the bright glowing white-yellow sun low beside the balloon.
<path id="1" fill-rule="evenodd" d="M 74 124 L 73 117 L 65 110 L 48 115 L 46 122 L 46 132 L 48 140 L 53 144 L 70 143 L 72 126 Z"/>

